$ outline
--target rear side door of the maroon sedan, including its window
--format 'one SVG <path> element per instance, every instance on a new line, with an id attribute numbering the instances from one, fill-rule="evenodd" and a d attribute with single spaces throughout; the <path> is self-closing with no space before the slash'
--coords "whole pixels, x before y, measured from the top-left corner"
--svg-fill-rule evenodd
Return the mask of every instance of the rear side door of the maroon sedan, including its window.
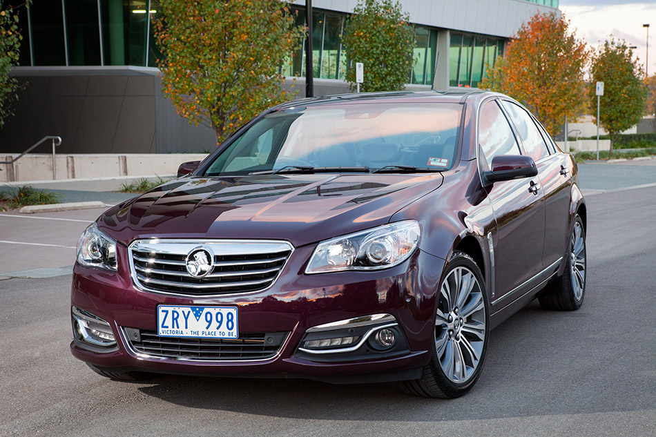
<path id="1" fill-rule="evenodd" d="M 562 259 L 567 245 L 571 180 L 566 155 L 555 153 L 547 133 L 527 110 L 509 100 L 502 100 L 502 104 L 517 128 L 525 153 L 533 158 L 538 169 L 545 204 L 542 258 L 547 268 Z"/>

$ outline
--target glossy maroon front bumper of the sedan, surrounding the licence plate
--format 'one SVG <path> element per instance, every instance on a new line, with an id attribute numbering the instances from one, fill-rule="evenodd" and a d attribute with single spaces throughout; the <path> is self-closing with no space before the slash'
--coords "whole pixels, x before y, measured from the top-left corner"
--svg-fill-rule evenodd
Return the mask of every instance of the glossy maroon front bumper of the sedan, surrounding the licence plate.
<path id="1" fill-rule="evenodd" d="M 333 382 L 418 378 L 421 367 L 430 360 L 436 284 L 444 261 L 416 251 L 406 262 L 385 271 L 304 275 L 302 271 L 312 250 L 312 247 L 296 249 L 273 287 L 265 291 L 212 298 L 164 295 L 138 289 L 129 274 L 125 248 L 119 248 L 117 273 L 76 265 L 72 306 L 106 320 L 116 344 L 97 347 L 74 335 L 70 349 L 76 358 L 90 365 L 119 372 L 293 376 Z M 240 337 L 262 333 L 262 338 L 273 337 L 271 341 L 279 342 L 280 347 L 267 358 L 238 360 L 142 353 L 135 347 L 137 343 L 128 337 L 136 338 L 153 331 L 156 334 L 160 304 L 238 307 Z M 303 348 L 306 340 L 316 338 L 316 333 L 311 337 L 313 331 L 316 332 L 313 327 L 372 314 L 389 314 L 394 319 L 392 324 L 389 318 L 383 323 L 396 329 L 400 340 L 395 347 L 376 350 L 370 347 L 371 339 L 365 339 L 360 347 L 351 347 L 352 351 L 312 353 Z M 75 322 L 75 318 L 72 320 Z M 382 326 L 372 324 L 370 328 Z M 373 331 L 354 332 L 362 337 L 372 336 Z"/>

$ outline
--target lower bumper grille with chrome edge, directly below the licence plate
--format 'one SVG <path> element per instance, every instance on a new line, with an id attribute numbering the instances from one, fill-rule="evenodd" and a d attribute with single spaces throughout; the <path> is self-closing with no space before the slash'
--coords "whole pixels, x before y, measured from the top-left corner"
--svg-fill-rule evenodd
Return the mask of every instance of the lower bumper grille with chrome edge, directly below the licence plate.
<path id="1" fill-rule="evenodd" d="M 240 333 L 239 338 L 174 338 L 157 331 L 124 328 L 132 349 L 147 356 L 178 360 L 266 360 L 278 354 L 288 332 Z M 136 335 L 135 335 L 136 333 Z"/>

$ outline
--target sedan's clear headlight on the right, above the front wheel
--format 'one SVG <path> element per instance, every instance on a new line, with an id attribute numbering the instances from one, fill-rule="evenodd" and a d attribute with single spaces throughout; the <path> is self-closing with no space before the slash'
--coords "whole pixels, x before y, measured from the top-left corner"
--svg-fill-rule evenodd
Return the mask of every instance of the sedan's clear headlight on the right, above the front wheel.
<path id="1" fill-rule="evenodd" d="M 379 270 L 396 266 L 412 255 L 419 243 L 419 224 L 396 222 L 320 242 L 305 273 Z"/>

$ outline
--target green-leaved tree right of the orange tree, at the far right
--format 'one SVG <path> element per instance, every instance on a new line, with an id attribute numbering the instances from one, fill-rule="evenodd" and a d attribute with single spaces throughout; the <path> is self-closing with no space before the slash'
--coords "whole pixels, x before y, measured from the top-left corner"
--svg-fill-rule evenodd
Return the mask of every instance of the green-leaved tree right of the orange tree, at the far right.
<path id="1" fill-rule="evenodd" d="M 599 124 L 610 137 L 610 155 L 617 136 L 638 124 L 644 114 L 647 87 L 633 50 L 625 41 L 604 42 L 592 59 L 590 68 L 590 104 L 597 107 L 596 82 L 604 82 L 604 95 L 599 104 Z M 597 116 L 596 111 L 592 111 Z M 595 118 L 596 122 L 596 118 Z"/>

